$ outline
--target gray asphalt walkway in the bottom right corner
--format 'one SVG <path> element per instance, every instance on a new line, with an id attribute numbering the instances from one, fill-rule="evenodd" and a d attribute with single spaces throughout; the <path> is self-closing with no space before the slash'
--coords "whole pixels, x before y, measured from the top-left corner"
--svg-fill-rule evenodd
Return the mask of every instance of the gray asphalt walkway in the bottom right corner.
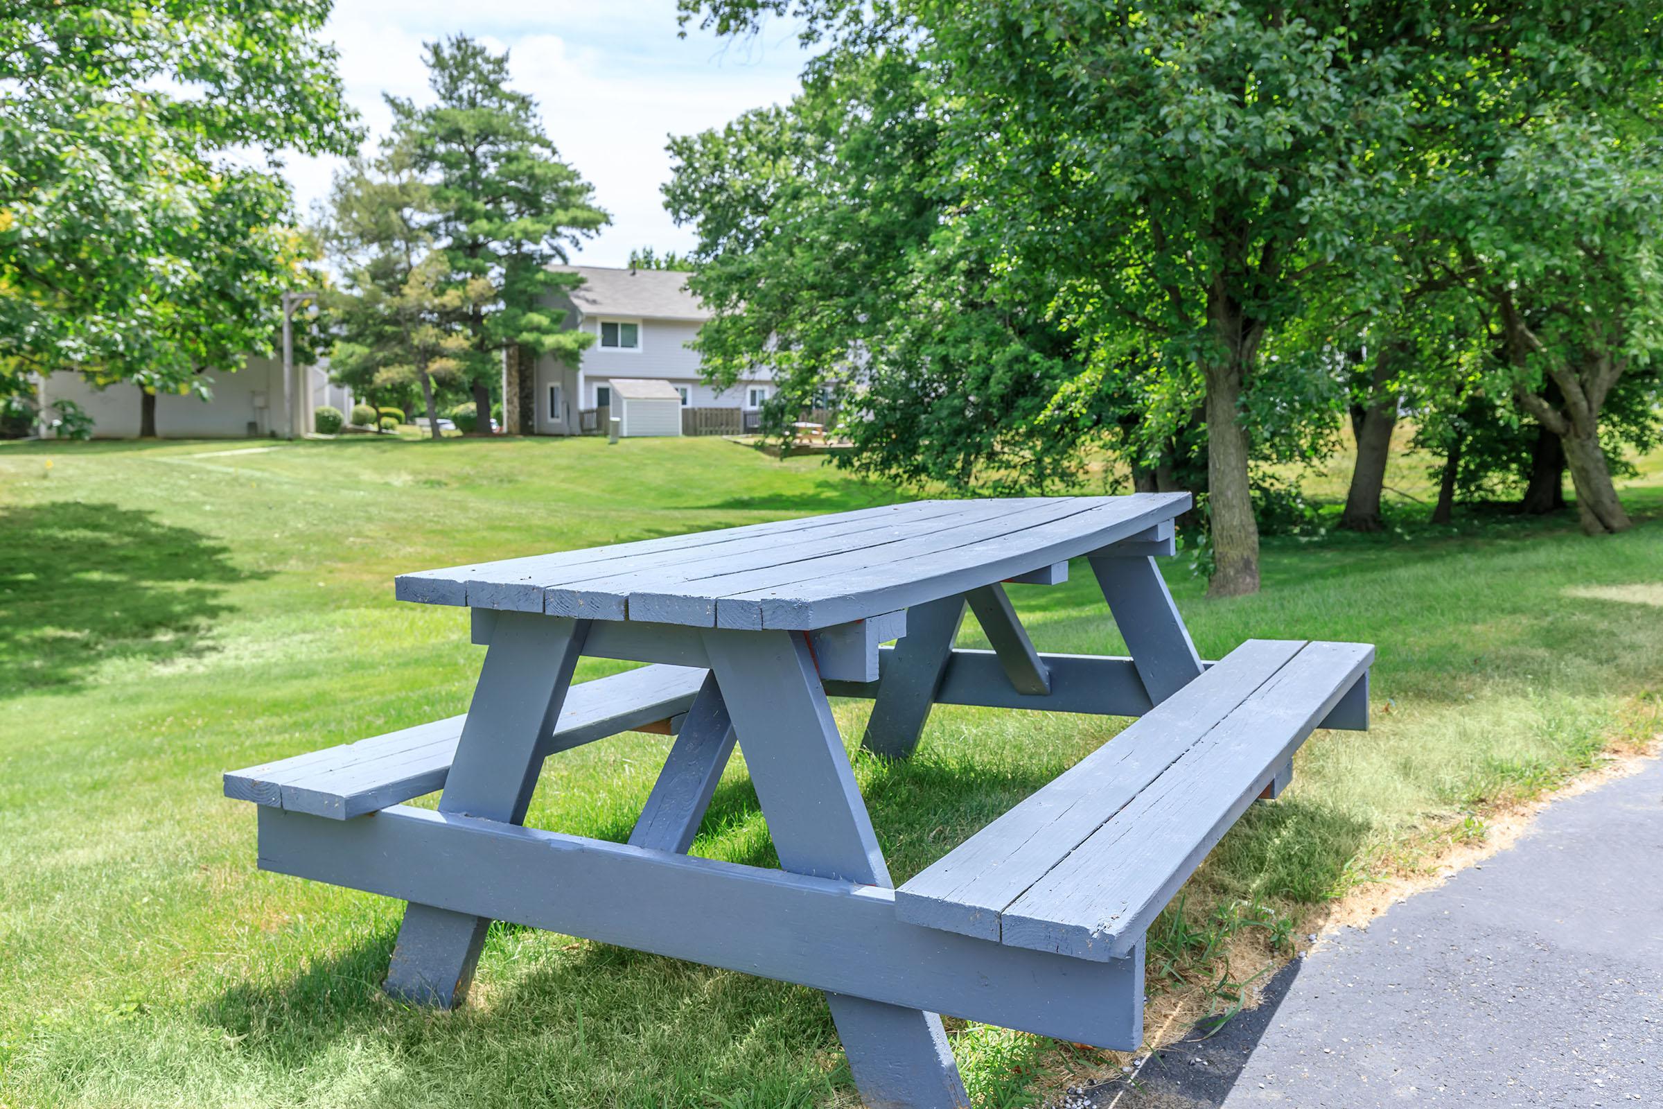
<path id="1" fill-rule="evenodd" d="M 1663 762 L 1344 929 L 1113 1109 L 1663 1107 Z"/>

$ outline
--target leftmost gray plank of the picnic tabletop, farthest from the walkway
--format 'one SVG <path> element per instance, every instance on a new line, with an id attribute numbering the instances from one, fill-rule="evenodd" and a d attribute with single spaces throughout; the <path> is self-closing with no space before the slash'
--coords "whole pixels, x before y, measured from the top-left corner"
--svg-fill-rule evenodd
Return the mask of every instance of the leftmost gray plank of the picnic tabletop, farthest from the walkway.
<path id="1" fill-rule="evenodd" d="M 502 559 L 497 562 L 477 562 L 471 565 L 452 565 L 439 570 L 419 570 L 401 574 L 396 579 L 399 600 L 419 604 L 466 605 L 467 585 L 472 582 L 479 590 L 479 602 L 491 600 L 491 590 L 517 589 L 540 590 L 544 585 L 562 580 L 562 575 L 580 567 L 610 565 L 622 559 L 639 555 L 665 554 L 677 550 L 695 550 L 722 545 L 727 550 L 745 550 L 755 544 L 772 542 L 780 535 L 810 532 L 822 527 L 841 527 L 851 520 L 866 519 L 905 519 L 921 510 L 918 505 L 938 504 L 918 500 L 911 504 L 886 504 L 873 509 L 856 509 L 853 512 L 835 512 L 828 515 L 805 515 L 792 520 L 770 520 L 767 524 L 747 524 L 743 527 L 723 527 L 705 532 L 687 532 L 667 535 L 664 539 L 642 539 L 624 544 L 607 544 L 602 547 L 584 547 L 577 550 L 559 550 L 522 559 Z M 506 600 L 506 597 L 504 597 Z M 477 607 L 492 607 L 486 604 Z M 514 609 L 516 604 L 502 607 Z"/>

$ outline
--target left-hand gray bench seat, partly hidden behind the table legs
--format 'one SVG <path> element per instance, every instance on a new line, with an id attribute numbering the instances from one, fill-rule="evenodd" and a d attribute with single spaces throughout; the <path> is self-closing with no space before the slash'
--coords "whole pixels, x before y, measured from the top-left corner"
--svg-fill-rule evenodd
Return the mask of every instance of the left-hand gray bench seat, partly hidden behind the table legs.
<path id="1" fill-rule="evenodd" d="M 659 663 L 572 685 L 542 755 L 670 720 L 707 670 Z M 467 713 L 225 775 L 225 795 L 293 813 L 351 820 L 444 788 Z"/>

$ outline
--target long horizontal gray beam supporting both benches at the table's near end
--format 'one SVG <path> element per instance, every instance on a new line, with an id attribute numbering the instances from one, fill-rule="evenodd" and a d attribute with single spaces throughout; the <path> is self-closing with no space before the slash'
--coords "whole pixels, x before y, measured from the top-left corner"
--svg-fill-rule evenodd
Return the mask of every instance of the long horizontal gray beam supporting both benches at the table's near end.
<path id="1" fill-rule="evenodd" d="M 881 886 L 402 805 L 346 823 L 259 815 L 266 871 L 1039 1036 L 1142 1042 L 1141 959 L 1086 963 L 905 924 Z"/>

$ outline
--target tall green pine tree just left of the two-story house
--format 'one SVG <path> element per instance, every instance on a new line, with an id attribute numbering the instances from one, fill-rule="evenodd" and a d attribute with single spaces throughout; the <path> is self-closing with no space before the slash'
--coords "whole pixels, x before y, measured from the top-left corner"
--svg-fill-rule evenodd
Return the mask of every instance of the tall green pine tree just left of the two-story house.
<path id="1" fill-rule="evenodd" d="M 507 86 L 507 53 L 457 35 L 429 43 L 426 62 L 436 103 L 387 96 L 392 141 L 429 190 L 417 226 L 446 259 L 437 289 L 459 298 L 467 349 L 456 371 L 489 434 L 491 386 L 511 346 L 575 361 L 594 341 L 549 308 L 550 293 L 580 281 L 549 266 L 607 214 L 544 135 L 535 100 Z"/>

